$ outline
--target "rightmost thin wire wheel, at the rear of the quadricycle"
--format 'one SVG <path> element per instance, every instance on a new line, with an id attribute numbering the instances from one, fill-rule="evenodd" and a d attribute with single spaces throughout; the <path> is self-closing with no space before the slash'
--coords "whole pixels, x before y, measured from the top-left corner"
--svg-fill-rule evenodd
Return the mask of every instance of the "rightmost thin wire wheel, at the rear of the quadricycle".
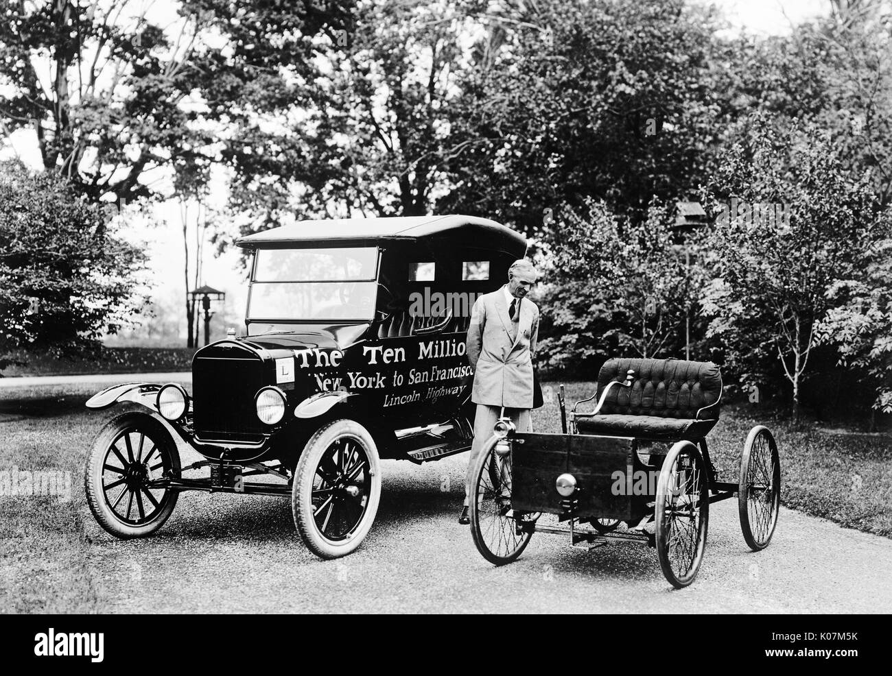
<path id="1" fill-rule="evenodd" d="M 768 547 L 780 509 L 780 458 L 771 431 L 756 425 L 740 458 L 740 530 L 753 551 Z"/>

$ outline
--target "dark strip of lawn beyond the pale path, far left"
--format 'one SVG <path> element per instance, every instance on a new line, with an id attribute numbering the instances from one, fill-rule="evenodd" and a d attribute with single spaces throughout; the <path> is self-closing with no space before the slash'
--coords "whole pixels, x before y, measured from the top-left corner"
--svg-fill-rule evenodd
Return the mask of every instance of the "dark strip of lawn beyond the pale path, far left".
<path id="1" fill-rule="evenodd" d="M 45 352 L 15 350 L 8 356 L 26 362 L 0 371 L 0 377 L 189 371 L 190 348 L 106 348 L 103 359 L 56 359 Z M 4 356 L 4 355 L 0 355 Z"/>

